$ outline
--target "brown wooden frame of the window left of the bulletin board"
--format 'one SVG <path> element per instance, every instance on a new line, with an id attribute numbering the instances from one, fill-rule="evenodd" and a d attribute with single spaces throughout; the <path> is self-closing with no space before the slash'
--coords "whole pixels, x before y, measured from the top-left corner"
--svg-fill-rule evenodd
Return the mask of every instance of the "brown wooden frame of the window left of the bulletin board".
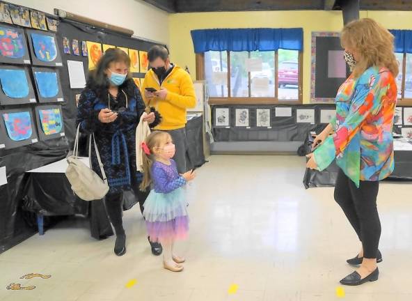
<path id="1" fill-rule="evenodd" d="M 275 97 L 232 97 L 230 87 L 230 51 L 226 51 L 228 58 L 228 97 L 209 97 L 209 105 L 301 105 L 303 103 L 303 52 L 298 52 L 298 99 L 297 100 L 279 100 L 278 99 L 278 51 L 275 55 L 275 75 L 274 87 Z M 248 52 L 251 56 L 251 52 Z M 196 79 L 205 80 L 205 53 L 196 54 Z M 248 72 L 248 89 L 251 95 L 251 72 Z"/>

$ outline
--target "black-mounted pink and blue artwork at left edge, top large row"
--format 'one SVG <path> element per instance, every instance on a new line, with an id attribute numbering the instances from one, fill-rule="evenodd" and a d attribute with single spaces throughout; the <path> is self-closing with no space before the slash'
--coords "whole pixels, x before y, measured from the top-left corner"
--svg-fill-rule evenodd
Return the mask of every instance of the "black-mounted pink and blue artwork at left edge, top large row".
<path id="1" fill-rule="evenodd" d="M 31 63 L 23 29 L 0 24 L 0 63 Z"/>

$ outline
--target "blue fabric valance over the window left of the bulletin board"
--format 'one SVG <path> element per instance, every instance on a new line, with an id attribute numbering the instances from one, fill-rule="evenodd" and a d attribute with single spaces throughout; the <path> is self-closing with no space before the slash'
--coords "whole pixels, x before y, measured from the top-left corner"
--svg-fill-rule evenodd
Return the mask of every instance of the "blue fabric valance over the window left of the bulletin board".
<path id="1" fill-rule="evenodd" d="M 198 29 L 191 31 L 196 53 L 303 49 L 303 29 Z"/>

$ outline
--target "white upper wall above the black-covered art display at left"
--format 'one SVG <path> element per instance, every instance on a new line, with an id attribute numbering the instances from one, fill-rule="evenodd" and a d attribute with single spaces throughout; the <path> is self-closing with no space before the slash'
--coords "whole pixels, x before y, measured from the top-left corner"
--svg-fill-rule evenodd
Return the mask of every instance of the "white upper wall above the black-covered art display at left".
<path id="1" fill-rule="evenodd" d="M 127 29 L 135 36 L 169 43 L 168 13 L 141 0 L 9 0 L 54 14 L 54 8 Z"/>

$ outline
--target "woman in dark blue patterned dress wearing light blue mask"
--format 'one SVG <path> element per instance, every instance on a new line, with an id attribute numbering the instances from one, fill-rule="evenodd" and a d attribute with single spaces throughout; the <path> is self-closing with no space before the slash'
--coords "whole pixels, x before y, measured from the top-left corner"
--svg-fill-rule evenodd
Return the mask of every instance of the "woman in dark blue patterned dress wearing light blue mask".
<path id="1" fill-rule="evenodd" d="M 95 134 L 104 165 L 109 184 L 104 203 L 116 232 L 114 252 L 118 256 L 126 252 L 126 236 L 122 226 L 122 192 L 134 190 L 141 198 L 140 202 L 148 195 L 139 192 L 142 175 L 136 171 L 136 126 L 145 111 L 145 105 L 129 75 L 129 66 L 130 59 L 125 52 L 108 49 L 97 63 L 97 68 L 90 72 L 77 110 L 77 125 L 80 124 L 81 132 Z M 154 122 L 155 117 L 152 110 L 144 120 L 155 126 L 155 123 L 159 123 L 159 120 Z M 91 162 L 93 171 L 102 176 L 94 148 Z M 157 253 L 159 252 L 161 246 L 157 246 Z"/>

